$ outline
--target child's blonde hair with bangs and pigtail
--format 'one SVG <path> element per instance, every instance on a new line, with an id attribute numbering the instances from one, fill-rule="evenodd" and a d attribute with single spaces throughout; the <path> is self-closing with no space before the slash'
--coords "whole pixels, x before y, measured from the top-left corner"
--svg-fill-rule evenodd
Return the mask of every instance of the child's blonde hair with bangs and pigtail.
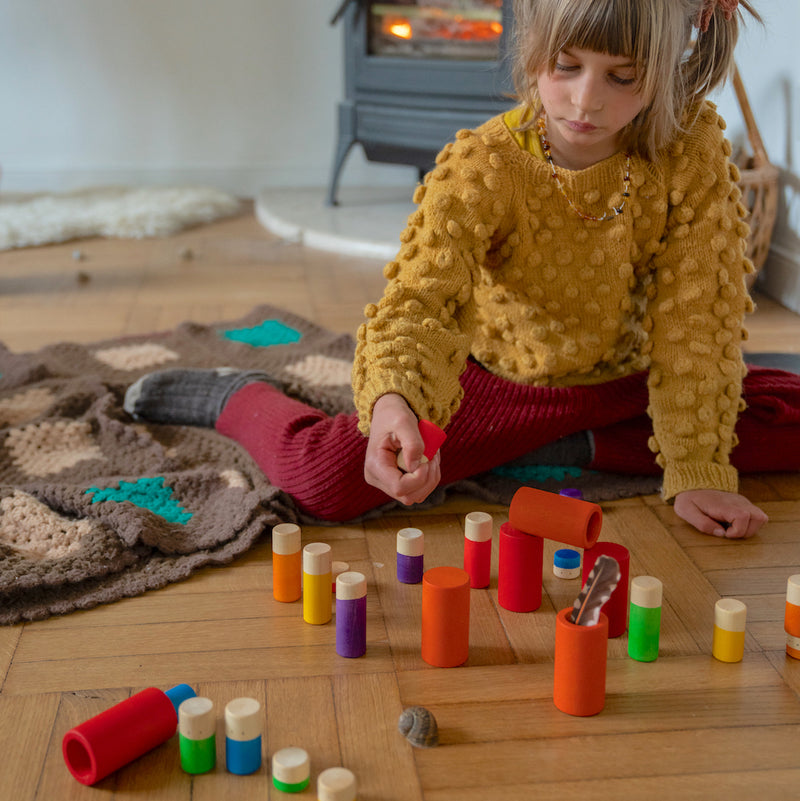
<path id="1" fill-rule="evenodd" d="M 515 0 L 513 76 L 527 120 L 521 129 L 536 124 L 537 75 L 555 69 L 562 50 L 625 56 L 637 66 L 645 107 L 623 132 L 623 145 L 652 158 L 733 67 L 742 12 L 726 13 L 716 5 L 708 30 L 700 33 L 695 26 L 708 1 Z M 740 7 L 760 21 L 747 0 Z"/>

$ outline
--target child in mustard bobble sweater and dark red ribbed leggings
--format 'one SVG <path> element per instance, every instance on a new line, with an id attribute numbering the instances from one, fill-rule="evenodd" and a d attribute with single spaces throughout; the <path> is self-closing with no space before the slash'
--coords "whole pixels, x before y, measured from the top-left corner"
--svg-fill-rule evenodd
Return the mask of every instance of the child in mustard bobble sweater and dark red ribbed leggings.
<path id="1" fill-rule="evenodd" d="M 700 531 L 755 534 L 767 518 L 738 494 L 737 467 L 800 467 L 797 416 L 777 428 L 758 414 L 797 397 L 800 377 L 745 378 L 742 360 L 746 210 L 704 100 L 740 15 L 736 0 L 519 0 L 519 106 L 459 132 L 418 188 L 358 332 L 357 415 L 228 371 L 145 376 L 126 409 L 216 426 L 327 520 L 540 449 L 532 459 L 662 470 Z M 418 418 L 448 434 L 425 463 Z"/>

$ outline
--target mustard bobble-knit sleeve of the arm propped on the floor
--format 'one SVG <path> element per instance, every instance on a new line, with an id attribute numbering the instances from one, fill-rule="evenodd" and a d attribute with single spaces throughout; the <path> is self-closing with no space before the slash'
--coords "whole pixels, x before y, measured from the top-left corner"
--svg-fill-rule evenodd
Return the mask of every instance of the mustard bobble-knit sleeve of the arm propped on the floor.
<path id="1" fill-rule="evenodd" d="M 707 104 L 668 168 L 667 228 L 650 289 L 650 446 L 664 469 L 663 495 L 738 489 L 730 453 L 744 408 L 741 341 L 752 311 L 744 283 L 747 211 L 730 164 L 724 122 Z"/>

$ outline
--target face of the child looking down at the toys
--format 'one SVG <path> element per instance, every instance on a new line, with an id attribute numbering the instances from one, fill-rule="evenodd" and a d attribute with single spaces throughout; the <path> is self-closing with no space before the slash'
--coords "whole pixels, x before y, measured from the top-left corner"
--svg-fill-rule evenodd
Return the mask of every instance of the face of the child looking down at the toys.
<path id="1" fill-rule="evenodd" d="M 583 169 L 619 150 L 620 132 L 644 108 L 635 65 L 625 56 L 566 49 L 537 76 L 557 164 Z"/>

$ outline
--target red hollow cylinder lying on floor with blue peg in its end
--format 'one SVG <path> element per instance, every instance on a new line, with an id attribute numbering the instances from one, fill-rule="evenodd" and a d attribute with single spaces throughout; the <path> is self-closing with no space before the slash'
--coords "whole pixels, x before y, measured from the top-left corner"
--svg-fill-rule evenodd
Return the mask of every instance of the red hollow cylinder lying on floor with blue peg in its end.
<path id="1" fill-rule="evenodd" d="M 178 707 L 194 695 L 188 684 L 166 692 L 148 687 L 70 729 L 61 745 L 69 772 L 96 784 L 166 742 L 178 729 Z"/>

